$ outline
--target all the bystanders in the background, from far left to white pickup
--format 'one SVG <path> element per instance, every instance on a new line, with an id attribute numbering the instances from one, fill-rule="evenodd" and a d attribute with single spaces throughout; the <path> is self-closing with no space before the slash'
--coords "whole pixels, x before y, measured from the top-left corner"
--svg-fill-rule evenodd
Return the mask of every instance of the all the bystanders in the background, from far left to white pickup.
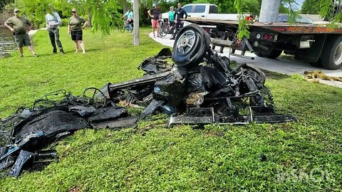
<path id="1" fill-rule="evenodd" d="M 172 38 L 170 39 L 175 39 L 175 37 L 177 36 L 177 31 L 179 31 L 180 28 L 183 27 L 184 21 L 182 21 L 181 19 L 187 18 L 187 12 L 182 9 L 182 4 L 178 3 L 177 6 L 178 9 L 176 11 L 174 10 L 173 6 L 170 7 L 169 11 L 168 23 L 170 25 L 170 28 L 176 29 L 175 32 L 172 32 Z M 48 13 L 45 16 L 46 29 L 51 41 L 51 46 L 53 47 L 52 53 L 56 54 L 58 47 L 59 52 L 63 55 L 64 50 L 59 38 L 59 27 L 62 24 L 61 17 L 58 15 L 58 13 L 53 11 L 52 6 L 50 6 L 50 9 L 47 12 Z M 78 53 L 80 47 L 82 52 L 86 53 L 86 48 L 83 43 L 83 28 L 88 25 L 88 22 L 86 21 L 86 19 L 78 16 L 76 9 L 72 9 L 71 13 L 73 16 L 71 16 L 68 21 L 68 35 L 71 35 L 71 40 L 75 44 L 75 53 Z M 159 6 L 156 4 L 153 9 L 147 11 L 147 14 L 151 17 L 153 37 L 156 37 L 155 29 L 157 29 L 157 37 L 159 37 L 159 20 L 162 18 Z M 126 24 L 133 22 L 133 11 L 130 11 L 129 8 L 123 17 L 127 17 Z M 9 30 L 11 30 L 11 32 L 14 34 L 15 41 L 18 45 L 20 57 L 24 57 L 24 46 L 28 46 L 28 49 L 31 51 L 33 57 L 38 57 L 38 55 L 36 55 L 33 50 L 31 39 L 28 36 L 28 31 L 31 30 L 32 23 L 27 18 L 22 16 L 19 9 L 14 9 L 14 16 L 7 19 L 7 21 L 4 23 L 4 26 L 6 26 L 6 28 L 9 28 Z"/>

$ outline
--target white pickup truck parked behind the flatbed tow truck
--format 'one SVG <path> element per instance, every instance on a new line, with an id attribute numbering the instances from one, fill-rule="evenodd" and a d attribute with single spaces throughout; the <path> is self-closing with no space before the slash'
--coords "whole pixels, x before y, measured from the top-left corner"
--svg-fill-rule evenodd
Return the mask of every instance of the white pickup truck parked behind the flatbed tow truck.
<path id="1" fill-rule="evenodd" d="M 219 8 L 215 4 L 186 4 L 182 9 L 187 11 L 187 19 L 239 20 L 238 14 L 219 14 Z M 168 18 L 168 12 L 162 14 L 162 19 Z"/>

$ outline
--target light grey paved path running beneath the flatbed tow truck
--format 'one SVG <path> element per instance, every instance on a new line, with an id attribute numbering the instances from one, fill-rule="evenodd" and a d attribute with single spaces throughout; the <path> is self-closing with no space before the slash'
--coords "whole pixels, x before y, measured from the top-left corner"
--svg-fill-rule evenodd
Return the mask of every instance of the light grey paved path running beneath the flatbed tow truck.
<path id="1" fill-rule="evenodd" d="M 153 34 L 150 33 L 150 38 L 153 38 Z M 164 38 L 153 38 L 155 41 L 161 43 L 164 46 L 173 46 L 174 41 L 170 40 L 170 35 L 165 36 Z M 237 51 L 237 53 L 239 53 Z M 221 55 L 229 55 L 229 49 L 224 48 L 224 53 Z M 277 58 L 277 59 L 268 59 L 268 58 L 260 58 L 254 53 L 247 53 L 246 55 L 254 57 L 254 60 L 249 60 L 245 58 L 239 58 L 235 56 L 231 56 L 231 60 L 236 60 L 237 63 L 252 63 L 256 65 L 258 68 L 264 70 L 274 71 L 276 73 L 283 73 L 286 75 L 293 75 L 293 74 L 301 74 L 303 75 L 305 70 L 322 70 L 324 74 L 333 76 L 333 77 L 342 77 L 342 68 L 339 70 L 325 70 L 323 68 L 315 68 L 309 65 L 309 63 L 303 63 L 294 60 L 286 60 L 284 58 Z M 342 82 L 338 81 L 329 81 L 329 80 L 320 80 L 320 82 L 333 85 L 336 87 L 342 87 Z"/>

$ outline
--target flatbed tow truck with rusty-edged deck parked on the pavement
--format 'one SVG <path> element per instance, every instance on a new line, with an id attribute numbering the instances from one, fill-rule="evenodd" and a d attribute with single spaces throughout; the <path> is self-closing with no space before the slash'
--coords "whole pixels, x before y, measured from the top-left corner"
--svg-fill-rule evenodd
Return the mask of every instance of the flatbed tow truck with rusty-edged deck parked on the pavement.
<path id="1" fill-rule="evenodd" d="M 294 55 L 296 60 L 304 60 L 315 67 L 337 70 L 342 67 L 342 24 L 331 28 L 326 23 L 249 23 L 250 37 L 239 41 L 237 28 L 239 21 L 185 19 L 197 23 L 212 38 L 212 48 L 220 46 L 241 50 L 240 57 L 249 50 L 263 58 L 277 58 L 284 51 Z"/>

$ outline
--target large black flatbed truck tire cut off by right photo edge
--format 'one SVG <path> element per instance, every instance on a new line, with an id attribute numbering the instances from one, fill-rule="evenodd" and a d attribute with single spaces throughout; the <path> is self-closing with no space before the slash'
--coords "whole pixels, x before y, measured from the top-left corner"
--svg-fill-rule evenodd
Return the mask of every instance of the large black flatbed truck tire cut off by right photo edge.
<path id="1" fill-rule="evenodd" d="M 323 68 L 337 70 L 342 67 L 342 36 L 332 36 L 321 53 Z"/>

